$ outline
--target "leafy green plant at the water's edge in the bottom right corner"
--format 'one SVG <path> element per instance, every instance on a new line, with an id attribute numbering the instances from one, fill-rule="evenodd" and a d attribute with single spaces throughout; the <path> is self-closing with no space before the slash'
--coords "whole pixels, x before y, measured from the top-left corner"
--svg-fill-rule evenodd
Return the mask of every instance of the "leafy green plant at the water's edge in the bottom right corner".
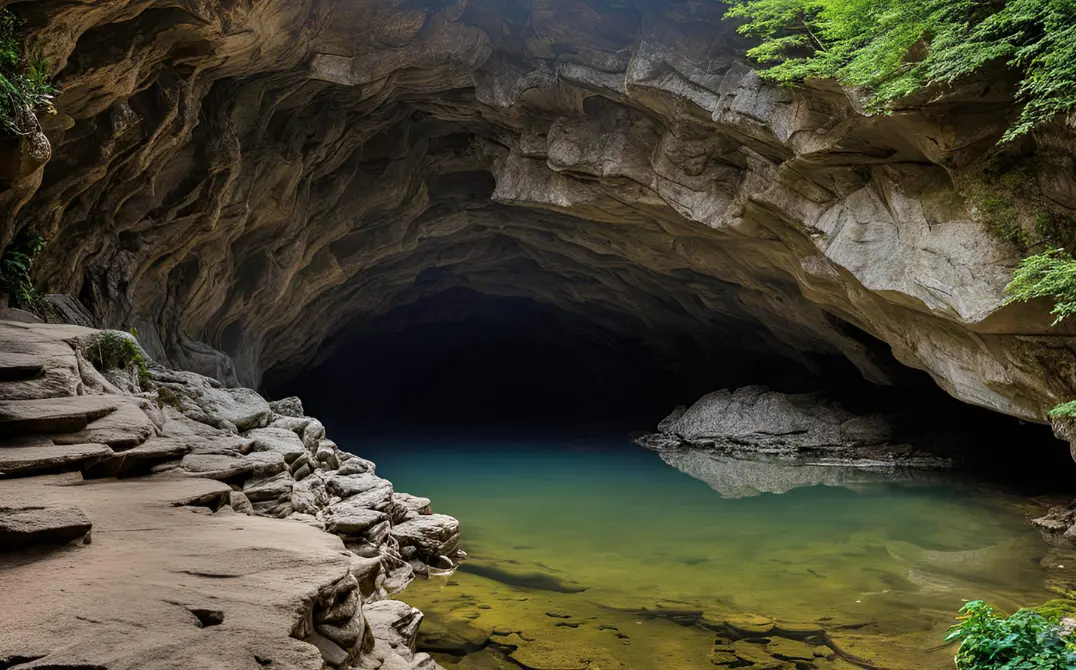
<path id="1" fill-rule="evenodd" d="M 958 670 L 1076 670 L 1076 651 L 1057 622 L 1034 610 L 1009 617 L 974 600 L 960 610 L 946 642 L 960 640 Z"/>

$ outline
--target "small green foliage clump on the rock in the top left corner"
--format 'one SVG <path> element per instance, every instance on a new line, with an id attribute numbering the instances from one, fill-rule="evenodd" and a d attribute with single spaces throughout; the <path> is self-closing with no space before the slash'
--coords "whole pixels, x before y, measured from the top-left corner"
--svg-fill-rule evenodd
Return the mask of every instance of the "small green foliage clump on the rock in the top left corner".
<path id="1" fill-rule="evenodd" d="M 12 134 L 36 129 L 34 112 L 53 112 L 56 88 L 48 63 L 40 56 L 27 57 L 19 39 L 19 20 L 0 10 L 0 127 Z"/>

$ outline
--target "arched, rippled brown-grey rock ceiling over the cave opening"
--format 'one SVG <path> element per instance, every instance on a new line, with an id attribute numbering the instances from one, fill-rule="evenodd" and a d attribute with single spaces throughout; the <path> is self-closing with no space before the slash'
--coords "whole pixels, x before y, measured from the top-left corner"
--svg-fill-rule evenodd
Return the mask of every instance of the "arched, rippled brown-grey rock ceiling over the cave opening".
<path id="1" fill-rule="evenodd" d="M 45 232 L 36 279 L 174 365 L 257 384 L 464 288 L 884 382 L 852 324 L 1024 418 L 1076 395 L 1073 340 L 1000 309 L 1017 257 L 952 187 L 1004 77 L 864 116 L 762 83 L 708 1 L 0 4 L 62 88 L 2 239 Z M 1076 210 L 1066 132 L 1016 149 Z"/>

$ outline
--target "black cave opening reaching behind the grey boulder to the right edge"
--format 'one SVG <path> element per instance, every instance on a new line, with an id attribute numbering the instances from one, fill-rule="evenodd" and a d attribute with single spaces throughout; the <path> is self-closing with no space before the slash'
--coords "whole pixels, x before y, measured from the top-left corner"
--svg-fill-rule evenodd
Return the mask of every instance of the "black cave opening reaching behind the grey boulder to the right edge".
<path id="1" fill-rule="evenodd" d="M 675 405 L 711 390 L 753 384 L 790 394 L 821 390 L 856 413 L 901 413 L 966 436 L 960 448 L 976 476 L 1035 491 L 1070 487 L 1072 460 L 1048 427 L 951 398 L 850 325 L 841 325 L 846 334 L 863 342 L 891 385 L 867 382 L 841 356 L 793 359 L 760 347 L 766 333 L 747 320 L 684 333 L 622 316 L 617 328 L 530 298 L 435 291 L 354 322 L 314 365 L 268 371 L 265 388 L 272 397 L 301 397 L 335 434 L 357 440 L 359 452 L 415 439 L 444 445 L 623 439 L 652 430 Z"/>

